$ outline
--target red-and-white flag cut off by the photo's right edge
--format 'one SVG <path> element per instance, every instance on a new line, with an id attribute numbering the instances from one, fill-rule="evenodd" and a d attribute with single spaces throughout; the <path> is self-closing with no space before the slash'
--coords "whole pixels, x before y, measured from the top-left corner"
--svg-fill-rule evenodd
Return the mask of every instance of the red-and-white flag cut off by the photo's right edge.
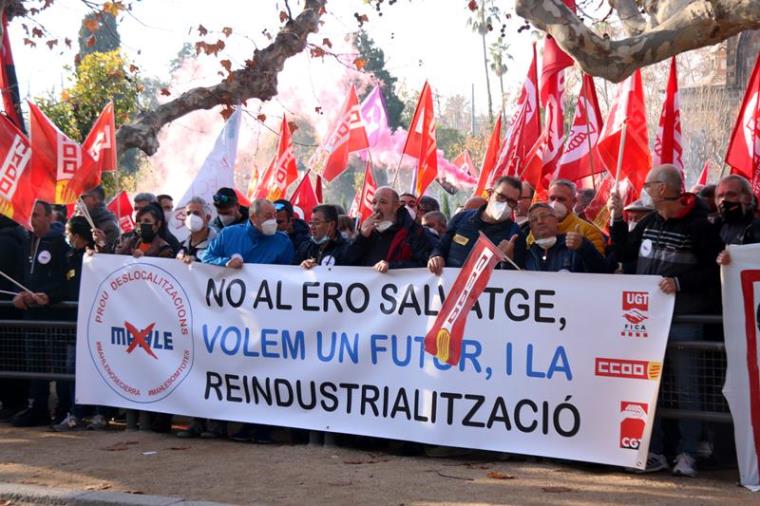
<path id="1" fill-rule="evenodd" d="M 760 54 L 744 93 L 742 108 L 736 118 L 728 144 L 726 163 L 752 182 L 752 191 L 760 197 Z"/>

